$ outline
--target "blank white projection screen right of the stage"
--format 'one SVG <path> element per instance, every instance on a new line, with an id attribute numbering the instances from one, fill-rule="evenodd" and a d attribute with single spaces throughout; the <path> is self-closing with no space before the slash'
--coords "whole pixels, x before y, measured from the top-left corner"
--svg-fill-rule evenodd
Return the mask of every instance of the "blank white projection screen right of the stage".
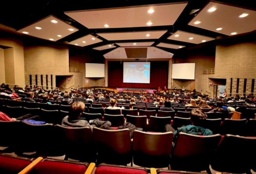
<path id="1" fill-rule="evenodd" d="M 194 80 L 195 63 L 174 63 L 172 66 L 172 78 Z"/>

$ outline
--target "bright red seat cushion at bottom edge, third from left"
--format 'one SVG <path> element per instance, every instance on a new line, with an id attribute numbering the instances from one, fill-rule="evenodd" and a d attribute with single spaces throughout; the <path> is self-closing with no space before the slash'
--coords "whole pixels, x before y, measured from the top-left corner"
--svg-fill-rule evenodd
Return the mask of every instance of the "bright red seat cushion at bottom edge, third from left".
<path id="1" fill-rule="evenodd" d="M 95 174 L 148 174 L 148 172 L 134 168 L 99 166 Z"/>

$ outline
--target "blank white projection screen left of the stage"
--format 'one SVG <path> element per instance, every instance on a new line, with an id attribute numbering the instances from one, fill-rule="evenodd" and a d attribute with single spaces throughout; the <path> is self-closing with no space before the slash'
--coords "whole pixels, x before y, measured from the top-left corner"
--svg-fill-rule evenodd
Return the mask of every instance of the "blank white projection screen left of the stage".
<path id="1" fill-rule="evenodd" d="M 103 78 L 105 77 L 105 64 L 85 63 L 86 78 Z"/>

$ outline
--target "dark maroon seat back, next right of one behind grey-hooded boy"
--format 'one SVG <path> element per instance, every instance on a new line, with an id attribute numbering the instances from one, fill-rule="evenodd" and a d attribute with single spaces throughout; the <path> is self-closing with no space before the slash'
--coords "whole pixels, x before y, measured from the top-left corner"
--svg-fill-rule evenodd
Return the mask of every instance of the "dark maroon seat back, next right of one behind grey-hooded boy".
<path id="1" fill-rule="evenodd" d="M 97 163 L 126 165 L 132 160 L 129 129 L 105 130 L 93 128 L 97 148 Z"/>

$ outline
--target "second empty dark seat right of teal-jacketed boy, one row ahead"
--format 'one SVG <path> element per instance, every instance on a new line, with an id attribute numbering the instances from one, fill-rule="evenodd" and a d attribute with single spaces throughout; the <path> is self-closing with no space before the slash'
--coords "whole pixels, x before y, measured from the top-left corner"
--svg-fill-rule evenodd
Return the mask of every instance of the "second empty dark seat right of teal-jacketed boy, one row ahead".
<path id="1" fill-rule="evenodd" d="M 245 125 L 247 120 L 231 120 L 231 119 L 224 119 L 222 125 L 220 126 L 220 134 L 226 135 L 244 135 L 245 133 Z"/>

